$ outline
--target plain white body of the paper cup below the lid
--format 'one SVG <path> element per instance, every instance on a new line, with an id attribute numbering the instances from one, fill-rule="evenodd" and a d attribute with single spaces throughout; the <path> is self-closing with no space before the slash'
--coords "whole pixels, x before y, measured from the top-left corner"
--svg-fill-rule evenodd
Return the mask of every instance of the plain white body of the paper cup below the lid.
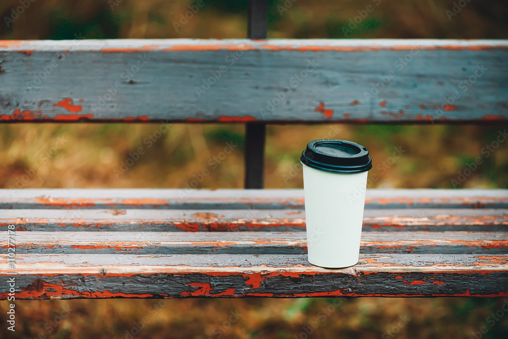
<path id="1" fill-rule="evenodd" d="M 368 172 L 331 173 L 302 165 L 308 261 L 328 268 L 357 264 Z"/>

